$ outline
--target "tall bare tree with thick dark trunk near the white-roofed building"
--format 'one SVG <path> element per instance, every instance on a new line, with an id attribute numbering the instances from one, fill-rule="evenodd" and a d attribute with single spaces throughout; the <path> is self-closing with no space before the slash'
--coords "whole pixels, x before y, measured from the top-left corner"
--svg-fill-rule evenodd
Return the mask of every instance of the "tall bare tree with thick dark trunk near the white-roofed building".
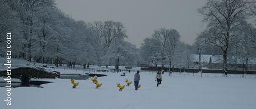
<path id="1" fill-rule="evenodd" d="M 208 37 L 212 44 L 222 50 L 224 74 L 227 75 L 227 51 L 230 41 L 235 38 L 233 32 L 237 30 L 241 19 L 247 19 L 254 7 L 253 0 L 208 0 L 198 12 L 204 15 L 208 22 L 211 35 Z"/>

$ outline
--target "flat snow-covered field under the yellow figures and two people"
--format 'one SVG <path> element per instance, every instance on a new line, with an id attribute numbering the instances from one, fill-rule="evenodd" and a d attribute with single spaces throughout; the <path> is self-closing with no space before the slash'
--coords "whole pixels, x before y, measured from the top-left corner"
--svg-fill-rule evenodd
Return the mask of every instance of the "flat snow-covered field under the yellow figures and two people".
<path id="1" fill-rule="evenodd" d="M 82 70 L 56 69 L 65 73 L 83 73 Z M 141 72 L 141 88 L 134 86 L 118 91 L 116 84 L 125 84 L 124 80 L 133 81 L 135 72 L 103 73 L 105 77 L 98 78 L 102 87 L 95 89 L 90 80 L 78 81 L 76 89 L 71 88 L 69 79 L 43 79 L 51 84 L 41 85 L 44 88 L 19 87 L 12 88 L 12 107 L 5 102 L 5 88 L 0 88 L 1 108 L 224 108 L 224 109 L 255 109 L 256 108 L 256 78 L 254 75 L 174 73 L 172 76 L 163 74 L 160 87 L 156 87 L 155 73 Z M 77 82 L 77 81 L 76 81 Z"/>

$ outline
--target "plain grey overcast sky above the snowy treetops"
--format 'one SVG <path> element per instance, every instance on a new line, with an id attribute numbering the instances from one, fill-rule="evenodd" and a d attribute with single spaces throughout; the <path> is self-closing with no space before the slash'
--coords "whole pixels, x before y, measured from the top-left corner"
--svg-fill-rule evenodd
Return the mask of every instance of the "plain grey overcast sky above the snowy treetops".
<path id="1" fill-rule="evenodd" d="M 161 27 L 179 31 L 181 40 L 193 44 L 204 30 L 196 12 L 206 0 L 55 0 L 57 7 L 85 22 L 119 21 L 127 30 L 127 41 L 140 47 L 144 38 Z"/>

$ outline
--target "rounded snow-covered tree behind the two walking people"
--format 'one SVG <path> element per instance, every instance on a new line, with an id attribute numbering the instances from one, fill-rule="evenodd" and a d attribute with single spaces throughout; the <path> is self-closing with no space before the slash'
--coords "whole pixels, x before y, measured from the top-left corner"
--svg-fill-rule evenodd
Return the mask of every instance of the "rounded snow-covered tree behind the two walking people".
<path id="1" fill-rule="evenodd" d="M 171 73 L 172 65 L 185 65 L 185 49 L 187 45 L 179 41 L 179 32 L 174 29 L 160 28 L 155 30 L 151 38 L 146 38 L 141 46 L 141 58 L 146 64 L 168 64 Z M 187 61 L 186 61 L 187 62 Z M 187 65 L 186 65 L 187 67 Z"/>

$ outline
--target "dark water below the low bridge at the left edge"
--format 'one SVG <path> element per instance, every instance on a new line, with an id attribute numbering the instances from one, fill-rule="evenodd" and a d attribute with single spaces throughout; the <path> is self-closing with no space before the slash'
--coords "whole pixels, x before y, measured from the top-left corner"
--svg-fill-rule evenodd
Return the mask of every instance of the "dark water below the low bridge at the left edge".
<path id="1" fill-rule="evenodd" d="M 12 87 L 38 87 L 43 88 L 40 85 L 52 83 L 49 81 L 30 81 L 29 84 L 21 84 L 21 82 L 12 82 Z M 0 82 L 0 87 L 5 87 L 6 82 Z"/>

